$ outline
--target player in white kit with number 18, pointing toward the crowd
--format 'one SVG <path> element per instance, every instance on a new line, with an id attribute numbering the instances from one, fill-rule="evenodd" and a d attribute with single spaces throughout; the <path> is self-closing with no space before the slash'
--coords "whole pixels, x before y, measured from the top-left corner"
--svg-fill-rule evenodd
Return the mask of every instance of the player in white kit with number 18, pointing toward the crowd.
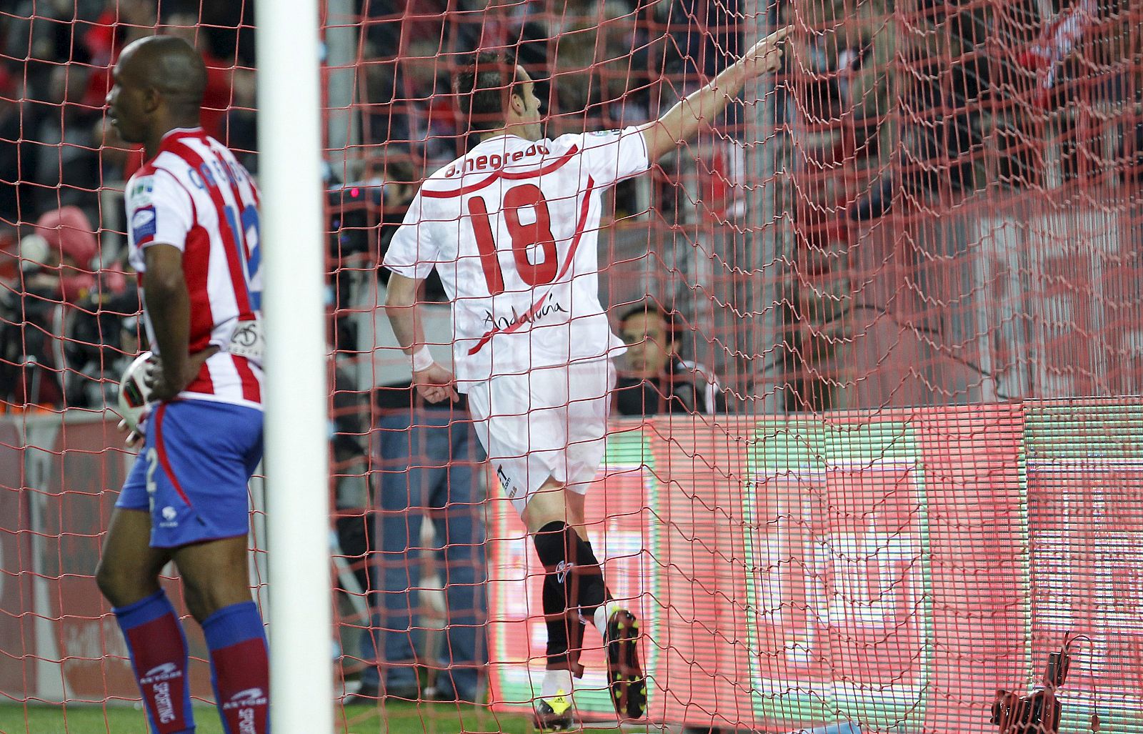
<path id="1" fill-rule="evenodd" d="M 456 91 L 480 143 L 429 176 L 385 255 L 393 272 L 385 310 L 413 358 L 417 390 L 434 402 L 469 394 L 477 434 L 545 568 L 541 731 L 574 725 L 585 620 L 604 637 L 620 718 L 646 708 L 638 622 L 612 598 L 584 528 L 584 493 L 604 456 L 612 358 L 624 351 L 599 303 L 601 194 L 693 137 L 748 79 L 776 70 L 788 33 L 759 41 L 658 120 L 557 139 L 543 137 L 527 72 L 478 55 Z M 433 269 L 453 304 L 455 376 L 433 361 L 417 314 Z"/>

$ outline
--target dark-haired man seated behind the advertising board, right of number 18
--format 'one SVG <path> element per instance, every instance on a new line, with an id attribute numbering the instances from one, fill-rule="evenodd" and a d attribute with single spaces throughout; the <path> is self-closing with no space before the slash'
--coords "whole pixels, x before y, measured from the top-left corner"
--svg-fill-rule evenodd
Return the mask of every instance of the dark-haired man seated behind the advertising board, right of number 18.
<path id="1" fill-rule="evenodd" d="M 726 398 L 714 374 L 679 357 L 679 325 L 674 311 L 646 302 L 620 319 L 626 343 L 626 369 L 613 392 L 620 415 L 662 413 L 724 413 Z"/>

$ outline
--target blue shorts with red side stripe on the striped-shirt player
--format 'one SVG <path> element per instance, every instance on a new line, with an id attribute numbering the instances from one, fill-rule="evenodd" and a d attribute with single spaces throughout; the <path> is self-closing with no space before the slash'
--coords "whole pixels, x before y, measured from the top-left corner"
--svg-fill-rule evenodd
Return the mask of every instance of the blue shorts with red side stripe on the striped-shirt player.
<path id="1" fill-rule="evenodd" d="M 246 535 L 247 484 L 262 461 L 262 410 L 210 400 L 161 402 L 117 508 L 151 512 L 151 548 Z"/>

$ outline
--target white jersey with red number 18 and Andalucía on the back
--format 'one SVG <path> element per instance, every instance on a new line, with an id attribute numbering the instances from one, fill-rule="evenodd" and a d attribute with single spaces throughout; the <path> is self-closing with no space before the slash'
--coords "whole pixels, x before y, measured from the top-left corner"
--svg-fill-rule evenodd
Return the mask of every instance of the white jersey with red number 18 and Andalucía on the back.
<path id="1" fill-rule="evenodd" d="M 599 303 L 601 193 L 649 168 L 642 133 L 499 135 L 430 176 L 384 264 L 453 302 L 457 389 L 622 353 Z"/>

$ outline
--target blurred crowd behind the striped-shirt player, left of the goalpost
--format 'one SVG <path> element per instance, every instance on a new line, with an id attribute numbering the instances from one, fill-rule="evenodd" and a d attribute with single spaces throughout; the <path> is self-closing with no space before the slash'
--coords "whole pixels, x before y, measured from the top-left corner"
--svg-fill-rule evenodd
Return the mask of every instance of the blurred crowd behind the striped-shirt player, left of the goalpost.
<path id="1" fill-rule="evenodd" d="M 122 48 L 157 30 L 194 43 L 209 73 L 203 126 L 256 160 L 241 6 L 162 7 L 160 16 L 152 0 L 29 0 L 0 11 L 0 301 L 16 317 L 0 320 L 6 410 L 102 408 L 138 349 L 119 194 L 143 153 L 104 115 Z"/>

